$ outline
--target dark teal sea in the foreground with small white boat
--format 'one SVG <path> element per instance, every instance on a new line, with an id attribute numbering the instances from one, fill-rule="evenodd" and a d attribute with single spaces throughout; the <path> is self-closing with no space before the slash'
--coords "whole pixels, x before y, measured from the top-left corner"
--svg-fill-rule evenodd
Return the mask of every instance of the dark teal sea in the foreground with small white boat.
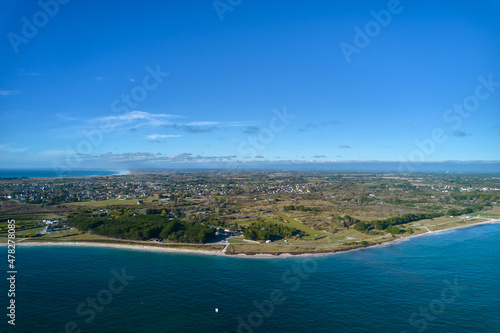
<path id="1" fill-rule="evenodd" d="M 19 246 L 16 326 L 0 330 L 500 332 L 499 239 L 491 224 L 276 259 Z"/>

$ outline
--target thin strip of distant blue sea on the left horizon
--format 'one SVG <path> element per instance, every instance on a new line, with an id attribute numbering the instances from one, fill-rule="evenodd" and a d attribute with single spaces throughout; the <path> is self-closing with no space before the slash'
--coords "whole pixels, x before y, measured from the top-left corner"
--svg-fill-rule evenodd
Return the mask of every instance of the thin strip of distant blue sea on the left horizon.
<path id="1" fill-rule="evenodd" d="M 75 170 L 58 170 L 58 169 L 15 169 L 7 170 L 0 169 L 0 178 L 46 178 L 46 177 L 73 177 L 73 176 L 109 176 L 122 174 L 120 171 L 110 171 L 110 170 L 87 170 L 87 169 L 75 169 Z"/>

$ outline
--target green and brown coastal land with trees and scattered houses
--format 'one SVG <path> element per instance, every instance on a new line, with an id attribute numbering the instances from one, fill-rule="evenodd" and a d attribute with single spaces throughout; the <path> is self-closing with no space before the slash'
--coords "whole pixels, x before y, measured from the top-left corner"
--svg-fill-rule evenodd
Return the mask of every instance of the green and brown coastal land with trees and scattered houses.
<path id="1" fill-rule="evenodd" d="M 492 174 L 148 170 L 0 184 L 0 241 L 15 220 L 26 245 L 321 254 L 500 219 Z"/>

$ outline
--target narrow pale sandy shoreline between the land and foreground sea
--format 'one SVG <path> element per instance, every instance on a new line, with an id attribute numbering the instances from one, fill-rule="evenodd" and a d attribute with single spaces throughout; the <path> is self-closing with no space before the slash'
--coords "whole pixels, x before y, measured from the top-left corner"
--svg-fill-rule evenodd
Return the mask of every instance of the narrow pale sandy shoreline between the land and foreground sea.
<path id="1" fill-rule="evenodd" d="M 427 231 L 422 234 L 412 235 L 408 237 L 400 237 L 397 239 L 383 241 L 380 243 L 373 243 L 368 245 L 359 245 L 355 247 L 345 248 L 345 249 L 337 249 L 337 250 L 319 250 L 319 251 L 309 251 L 309 252 L 270 252 L 270 253 L 256 253 L 256 252 L 229 252 L 226 253 L 223 250 L 218 251 L 209 251 L 209 250 L 194 250 L 194 249 L 182 249 L 179 247 L 163 247 L 163 246 L 155 246 L 145 244 L 110 244 L 103 242 L 78 242 L 78 241 L 70 241 L 70 242 L 16 242 L 16 245 L 21 247 L 37 247 L 37 246 L 81 246 L 81 247 L 101 247 L 101 248 L 115 248 L 115 249 L 128 249 L 128 250 L 136 250 L 136 251 L 149 251 L 149 252 L 166 252 L 166 253 L 184 253 L 184 254 L 202 254 L 202 255 L 210 255 L 210 256 L 223 256 L 223 257 L 233 257 L 233 258 L 255 258 L 255 259 L 277 259 L 277 258 L 292 258 L 292 257 L 304 257 L 304 256 L 326 256 L 326 255 L 334 255 L 339 253 L 345 253 L 350 251 L 357 251 L 366 248 L 374 248 L 381 246 L 389 246 L 393 244 L 398 244 L 404 241 L 411 240 L 416 237 L 421 236 L 429 236 L 432 234 L 438 234 L 445 231 L 452 231 L 458 229 L 467 229 L 473 228 L 480 225 L 486 224 L 496 224 L 500 223 L 500 219 L 489 219 L 487 221 L 478 222 L 474 224 L 469 224 L 465 226 L 457 226 L 449 229 L 435 230 L 435 231 Z M 148 244 L 148 245 L 147 245 Z"/>

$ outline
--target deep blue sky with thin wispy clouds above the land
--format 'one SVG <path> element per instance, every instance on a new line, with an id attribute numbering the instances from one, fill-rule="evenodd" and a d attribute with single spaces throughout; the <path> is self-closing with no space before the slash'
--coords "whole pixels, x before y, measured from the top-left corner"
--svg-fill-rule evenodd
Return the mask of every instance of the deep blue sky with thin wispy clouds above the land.
<path id="1" fill-rule="evenodd" d="M 500 1 L 41 3 L 0 14 L 0 167 L 500 160 Z"/>

